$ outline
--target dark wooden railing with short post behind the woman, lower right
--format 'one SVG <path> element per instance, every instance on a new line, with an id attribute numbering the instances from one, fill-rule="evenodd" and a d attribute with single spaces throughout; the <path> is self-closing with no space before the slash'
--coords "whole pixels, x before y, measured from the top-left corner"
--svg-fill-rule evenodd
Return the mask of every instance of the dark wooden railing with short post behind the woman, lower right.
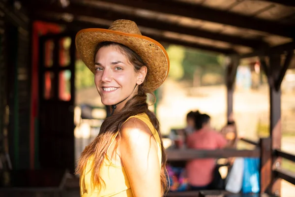
<path id="1" fill-rule="evenodd" d="M 249 144 L 255 145 L 254 150 L 236 150 L 236 149 L 218 149 L 218 150 L 168 150 L 168 162 L 176 161 L 188 161 L 197 158 L 230 158 L 230 157 L 259 157 L 261 161 L 260 166 L 260 188 L 261 194 L 271 186 L 272 180 L 282 178 L 295 185 L 295 173 L 286 169 L 277 167 L 272 169 L 273 158 L 282 157 L 292 162 L 295 162 L 295 156 L 283 151 L 271 149 L 271 139 L 261 138 L 259 142 L 255 142 L 249 139 L 240 139 Z M 190 194 L 191 193 L 187 193 Z M 177 195 L 174 193 L 174 197 Z M 180 196 L 185 196 L 182 194 Z M 170 197 L 170 195 L 168 195 Z M 172 197 L 172 196 L 171 196 Z"/>

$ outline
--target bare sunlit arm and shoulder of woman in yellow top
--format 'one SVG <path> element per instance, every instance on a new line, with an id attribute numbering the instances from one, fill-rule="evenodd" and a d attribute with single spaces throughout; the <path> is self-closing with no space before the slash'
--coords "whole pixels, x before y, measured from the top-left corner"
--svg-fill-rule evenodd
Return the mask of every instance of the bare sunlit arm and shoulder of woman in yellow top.
<path id="1" fill-rule="evenodd" d="M 160 197 L 158 146 L 148 126 L 132 118 L 121 128 L 119 154 L 134 197 Z"/>

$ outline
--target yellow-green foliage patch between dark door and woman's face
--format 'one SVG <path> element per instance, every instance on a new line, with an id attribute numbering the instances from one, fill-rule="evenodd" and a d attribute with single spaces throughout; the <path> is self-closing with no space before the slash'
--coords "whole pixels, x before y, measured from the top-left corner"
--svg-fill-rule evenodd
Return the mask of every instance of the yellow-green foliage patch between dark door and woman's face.
<path id="1" fill-rule="evenodd" d="M 77 90 L 94 86 L 94 75 L 89 68 L 82 62 L 76 61 L 76 80 L 75 86 Z"/>

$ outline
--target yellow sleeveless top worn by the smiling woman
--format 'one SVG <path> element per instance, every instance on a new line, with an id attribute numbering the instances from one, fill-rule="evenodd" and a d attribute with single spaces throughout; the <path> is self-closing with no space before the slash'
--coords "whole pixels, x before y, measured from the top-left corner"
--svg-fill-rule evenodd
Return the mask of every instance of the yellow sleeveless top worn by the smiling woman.
<path id="1" fill-rule="evenodd" d="M 130 118 L 138 118 L 147 124 L 149 130 L 152 132 L 158 144 L 158 158 L 161 167 L 161 141 L 159 134 L 151 124 L 148 115 L 145 113 L 138 114 L 136 116 L 130 116 L 127 120 L 129 120 Z M 115 140 L 117 135 L 118 132 L 115 134 L 113 141 Z M 91 158 L 89 158 L 84 173 L 80 175 L 81 197 L 133 197 L 130 182 L 124 167 L 113 164 L 107 156 L 104 159 L 103 166 L 100 171 L 100 177 L 105 182 L 105 186 L 102 186 L 100 191 L 96 187 L 93 187 L 91 185 L 92 162 L 93 161 L 91 160 Z"/>

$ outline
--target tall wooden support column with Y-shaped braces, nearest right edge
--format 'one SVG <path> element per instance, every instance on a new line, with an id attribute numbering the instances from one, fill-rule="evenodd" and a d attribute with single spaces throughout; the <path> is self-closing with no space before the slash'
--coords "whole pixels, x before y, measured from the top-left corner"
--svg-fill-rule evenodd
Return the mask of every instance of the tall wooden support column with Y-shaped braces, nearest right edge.
<path id="1" fill-rule="evenodd" d="M 282 65 L 281 54 L 270 54 L 268 56 L 268 64 L 266 58 L 261 57 L 261 65 L 264 69 L 268 84 L 269 84 L 269 99 L 270 99 L 270 139 L 271 139 L 271 151 L 281 149 L 281 83 L 284 75 L 290 65 L 291 59 L 293 58 L 294 50 L 287 52 L 285 56 L 284 64 Z M 272 156 L 271 158 L 272 169 L 279 167 L 281 161 L 279 158 Z M 276 196 L 281 194 L 281 182 L 276 177 L 275 173 L 271 173 L 271 185 L 269 187 L 269 193 Z"/>

